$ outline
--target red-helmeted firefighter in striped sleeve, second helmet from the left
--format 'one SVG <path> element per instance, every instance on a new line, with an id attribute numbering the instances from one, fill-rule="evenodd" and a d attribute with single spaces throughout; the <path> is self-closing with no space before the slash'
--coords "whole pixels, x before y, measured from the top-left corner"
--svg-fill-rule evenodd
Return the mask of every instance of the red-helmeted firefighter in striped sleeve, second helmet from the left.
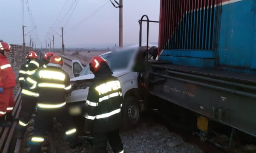
<path id="1" fill-rule="evenodd" d="M 27 77 L 26 73 L 27 73 L 30 61 L 34 61 L 34 60 L 37 59 L 36 52 L 30 51 L 27 58 L 28 58 L 28 60 L 26 61 L 26 63 L 21 65 L 20 71 L 19 71 L 19 81 L 20 81 L 20 87 L 21 88 L 23 88 L 23 82 Z"/>

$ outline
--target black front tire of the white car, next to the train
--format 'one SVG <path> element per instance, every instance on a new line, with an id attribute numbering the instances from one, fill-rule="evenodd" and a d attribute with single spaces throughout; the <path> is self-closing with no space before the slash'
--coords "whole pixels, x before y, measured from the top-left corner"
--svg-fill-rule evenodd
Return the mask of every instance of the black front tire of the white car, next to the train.
<path id="1" fill-rule="evenodd" d="M 122 105 L 122 129 L 135 128 L 141 117 L 138 100 L 135 97 L 125 97 Z"/>

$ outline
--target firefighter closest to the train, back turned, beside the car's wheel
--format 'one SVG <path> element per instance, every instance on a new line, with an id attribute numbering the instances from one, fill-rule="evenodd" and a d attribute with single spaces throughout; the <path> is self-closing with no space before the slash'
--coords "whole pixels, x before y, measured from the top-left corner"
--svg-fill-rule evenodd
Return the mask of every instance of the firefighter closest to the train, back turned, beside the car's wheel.
<path id="1" fill-rule="evenodd" d="M 85 132 L 90 133 L 94 129 L 95 153 L 107 153 L 107 141 L 114 153 L 123 153 L 119 136 L 123 100 L 121 84 L 112 76 L 107 61 L 102 57 L 92 57 L 89 66 L 95 77 L 86 100 L 88 114 L 85 115 Z"/>

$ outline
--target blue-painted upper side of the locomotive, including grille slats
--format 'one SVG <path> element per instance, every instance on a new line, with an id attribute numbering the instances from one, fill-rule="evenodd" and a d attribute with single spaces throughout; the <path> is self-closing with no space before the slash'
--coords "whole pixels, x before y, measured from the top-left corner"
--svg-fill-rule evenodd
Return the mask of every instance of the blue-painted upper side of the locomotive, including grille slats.
<path id="1" fill-rule="evenodd" d="M 171 31 L 173 34 L 170 38 L 167 36 L 163 40 L 166 41 L 164 45 L 160 43 L 163 50 L 159 60 L 183 66 L 256 73 L 256 2 L 223 1 L 210 1 L 212 5 L 206 2 L 200 8 L 193 8 L 191 4 L 192 10 L 187 10 L 177 28 Z M 198 16 L 202 16 L 202 21 L 198 21 Z M 207 20 L 209 18 L 211 21 Z M 166 21 L 170 22 L 168 19 Z M 166 28 L 169 27 L 162 27 L 163 34 L 160 37 L 166 35 Z M 181 31 L 184 37 L 181 37 Z M 191 36 L 186 36 L 189 33 Z M 170 41 L 180 41 L 181 45 L 170 46 Z"/>

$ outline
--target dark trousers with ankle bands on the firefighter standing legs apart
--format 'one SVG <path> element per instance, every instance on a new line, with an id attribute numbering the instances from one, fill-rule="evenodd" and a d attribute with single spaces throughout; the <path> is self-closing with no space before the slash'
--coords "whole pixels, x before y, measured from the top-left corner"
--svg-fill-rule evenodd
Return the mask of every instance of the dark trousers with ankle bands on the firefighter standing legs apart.
<path id="1" fill-rule="evenodd" d="M 38 108 L 35 117 L 33 136 L 44 137 L 46 131 L 49 129 L 48 126 L 53 125 L 49 122 L 52 122 L 54 117 L 56 117 L 62 124 L 64 131 L 75 128 L 72 118 L 69 116 L 67 105 L 62 106 L 61 108 L 49 108 L 47 110 L 45 108 Z M 70 146 L 73 146 L 78 142 L 76 133 L 70 134 L 66 138 L 69 140 Z M 33 143 L 30 146 L 30 153 L 40 153 L 41 145 L 41 143 Z"/>

